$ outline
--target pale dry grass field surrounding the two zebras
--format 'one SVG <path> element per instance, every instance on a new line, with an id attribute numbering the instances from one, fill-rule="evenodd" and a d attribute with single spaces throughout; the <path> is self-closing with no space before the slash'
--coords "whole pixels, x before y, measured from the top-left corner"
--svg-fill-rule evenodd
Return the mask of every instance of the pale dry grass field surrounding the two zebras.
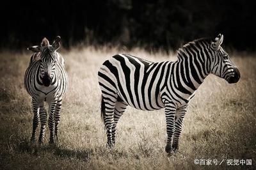
<path id="1" fill-rule="evenodd" d="M 33 113 L 23 85 L 31 52 L 0 52 L 0 169 L 223 169 L 227 159 L 252 159 L 256 166 L 256 56 L 230 53 L 241 72 L 237 84 L 209 75 L 189 105 L 180 150 L 167 157 L 164 110 L 128 107 L 117 125 L 115 149 L 106 148 L 100 120 L 97 71 L 104 60 L 128 52 L 151 61 L 176 59 L 175 53 L 74 48 L 62 51 L 69 77 L 63 98 L 60 139 L 30 144 Z M 39 131 L 39 130 L 38 130 Z M 38 139 L 38 133 L 37 133 Z M 217 159 L 221 165 L 200 166 L 195 159 Z"/>

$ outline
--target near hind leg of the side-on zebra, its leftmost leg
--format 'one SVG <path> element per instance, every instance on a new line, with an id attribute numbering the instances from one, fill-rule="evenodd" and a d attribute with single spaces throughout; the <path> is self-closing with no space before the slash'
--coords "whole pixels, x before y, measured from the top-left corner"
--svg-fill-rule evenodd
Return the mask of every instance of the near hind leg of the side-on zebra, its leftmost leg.
<path id="1" fill-rule="evenodd" d="M 107 133 L 107 147 L 109 149 L 114 147 L 112 139 L 112 127 L 114 123 L 114 109 L 116 105 L 117 95 L 106 94 L 102 91 L 102 101 L 101 101 L 101 117 L 104 121 L 104 125 Z"/>

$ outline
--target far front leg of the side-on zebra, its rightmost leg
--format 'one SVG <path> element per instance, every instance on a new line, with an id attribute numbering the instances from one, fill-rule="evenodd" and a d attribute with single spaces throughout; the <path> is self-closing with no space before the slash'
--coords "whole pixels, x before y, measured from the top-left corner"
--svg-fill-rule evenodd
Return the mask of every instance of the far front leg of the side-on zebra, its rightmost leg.
<path id="1" fill-rule="evenodd" d="M 173 148 L 173 151 L 175 152 L 179 150 L 179 137 L 182 131 L 182 122 L 187 112 L 187 108 L 188 108 L 188 105 L 184 105 L 179 109 L 177 109 L 175 114 L 175 131 L 174 131 L 173 143 L 172 143 L 172 148 Z"/>

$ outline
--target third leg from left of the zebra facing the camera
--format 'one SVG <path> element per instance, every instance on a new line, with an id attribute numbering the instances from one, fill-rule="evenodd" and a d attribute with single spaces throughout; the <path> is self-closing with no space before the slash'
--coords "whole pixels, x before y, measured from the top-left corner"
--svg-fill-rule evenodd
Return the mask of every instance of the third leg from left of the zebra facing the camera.
<path id="1" fill-rule="evenodd" d="M 54 143 L 54 110 L 56 107 L 56 100 L 49 104 L 49 120 L 48 120 L 48 127 L 50 130 L 50 141 L 49 143 Z"/>

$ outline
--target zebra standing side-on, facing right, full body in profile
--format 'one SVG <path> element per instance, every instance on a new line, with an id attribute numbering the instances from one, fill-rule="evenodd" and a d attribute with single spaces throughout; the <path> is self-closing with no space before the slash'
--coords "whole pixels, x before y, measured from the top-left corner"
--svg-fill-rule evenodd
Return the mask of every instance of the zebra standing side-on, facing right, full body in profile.
<path id="1" fill-rule="evenodd" d="M 154 63 L 129 54 L 106 60 L 98 78 L 107 146 L 114 146 L 116 124 L 130 105 L 147 111 L 164 108 L 168 136 L 165 151 L 177 151 L 189 101 L 205 77 L 212 73 L 229 83 L 239 81 L 239 70 L 221 47 L 222 42 L 221 34 L 189 42 L 177 51 L 175 62 Z"/>

